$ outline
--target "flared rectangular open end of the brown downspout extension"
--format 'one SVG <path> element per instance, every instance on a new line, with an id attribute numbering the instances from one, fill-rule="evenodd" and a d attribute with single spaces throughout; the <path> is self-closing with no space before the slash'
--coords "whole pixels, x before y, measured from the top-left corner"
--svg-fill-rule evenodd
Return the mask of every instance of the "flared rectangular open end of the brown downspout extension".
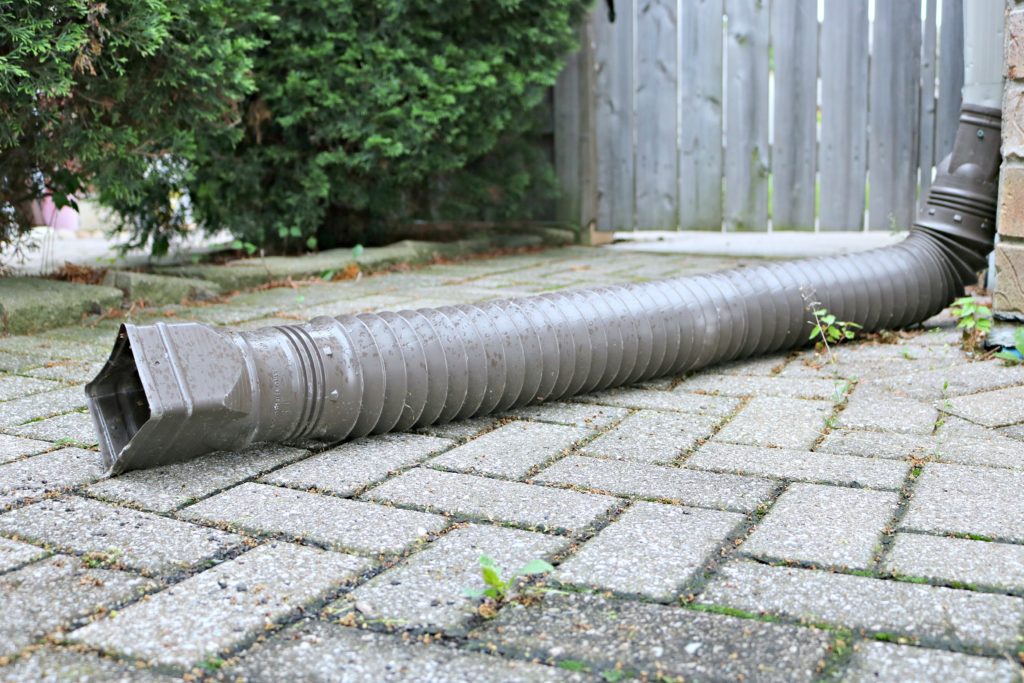
<path id="1" fill-rule="evenodd" d="M 205 325 L 121 326 L 85 394 L 110 475 L 252 440 L 242 350 Z"/>

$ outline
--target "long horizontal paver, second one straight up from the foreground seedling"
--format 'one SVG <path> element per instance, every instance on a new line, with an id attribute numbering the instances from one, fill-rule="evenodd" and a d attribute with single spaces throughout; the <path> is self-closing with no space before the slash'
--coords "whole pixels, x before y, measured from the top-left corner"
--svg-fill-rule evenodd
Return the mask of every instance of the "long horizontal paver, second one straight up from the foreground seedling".
<path id="1" fill-rule="evenodd" d="M 618 505 L 609 496 L 423 468 L 389 479 L 364 494 L 364 498 L 528 528 L 567 531 L 586 527 Z"/>

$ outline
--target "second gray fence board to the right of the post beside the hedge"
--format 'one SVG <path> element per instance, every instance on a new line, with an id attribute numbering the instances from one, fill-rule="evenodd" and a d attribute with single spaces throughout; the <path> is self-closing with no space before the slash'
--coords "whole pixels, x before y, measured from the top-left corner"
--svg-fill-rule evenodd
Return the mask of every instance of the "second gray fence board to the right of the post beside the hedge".
<path id="1" fill-rule="evenodd" d="M 676 0 L 637 2 L 636 225 L 679 225 Z"/>

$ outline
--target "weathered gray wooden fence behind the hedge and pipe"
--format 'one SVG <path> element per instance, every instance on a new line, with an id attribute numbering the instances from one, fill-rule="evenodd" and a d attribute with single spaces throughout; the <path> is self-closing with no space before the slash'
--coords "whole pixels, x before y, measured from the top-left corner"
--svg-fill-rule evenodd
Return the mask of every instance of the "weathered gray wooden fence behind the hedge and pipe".
<path id="1" fill-rule="evenodd" d="M 873 17 L 869 9 L 873 7 Z M 952 146 L 963 0 L 602 0 L 554 92 L 561 220 L 906 227 Z"/>

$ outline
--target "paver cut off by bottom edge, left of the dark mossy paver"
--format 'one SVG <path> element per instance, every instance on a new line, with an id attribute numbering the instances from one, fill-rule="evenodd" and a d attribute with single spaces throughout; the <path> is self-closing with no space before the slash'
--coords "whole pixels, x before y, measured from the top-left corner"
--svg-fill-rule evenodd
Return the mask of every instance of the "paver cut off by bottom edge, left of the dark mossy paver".
<path id="1" fill-rule="evenodd" d="M 229 676 L 251 683 L 292 680 L 321 683 L 546 683 L 589 681 L 589 676 L 479 652 L 423 645 L 399 636 L 349 629 L 324 622 L 289 628 L 254 648 Z"/>

